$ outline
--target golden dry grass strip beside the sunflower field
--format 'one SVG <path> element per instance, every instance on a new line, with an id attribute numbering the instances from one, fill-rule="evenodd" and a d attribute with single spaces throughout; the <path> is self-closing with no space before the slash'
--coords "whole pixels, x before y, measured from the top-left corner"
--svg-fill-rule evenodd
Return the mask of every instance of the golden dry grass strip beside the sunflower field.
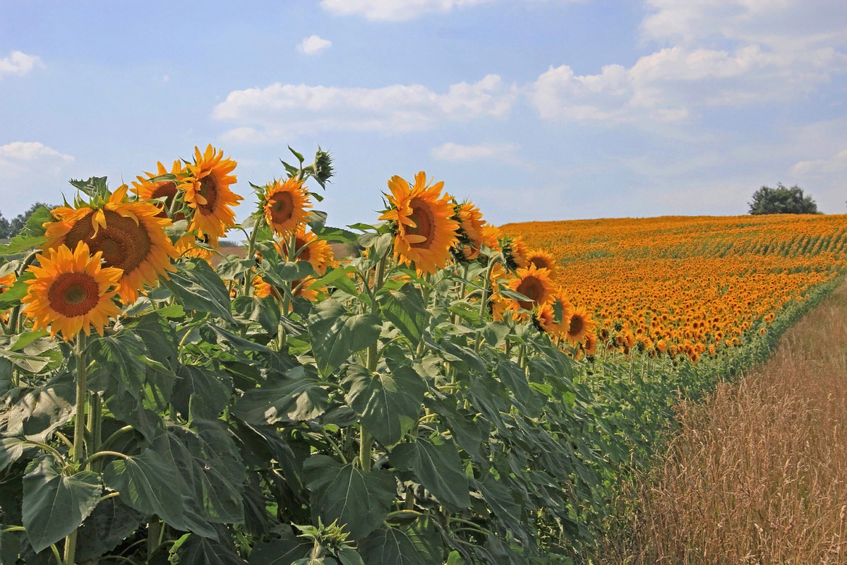
<path id="1" fill-rule="evenodd" d="M 678 419 L 601 562 L 847 563 L 847 284 Z"/>

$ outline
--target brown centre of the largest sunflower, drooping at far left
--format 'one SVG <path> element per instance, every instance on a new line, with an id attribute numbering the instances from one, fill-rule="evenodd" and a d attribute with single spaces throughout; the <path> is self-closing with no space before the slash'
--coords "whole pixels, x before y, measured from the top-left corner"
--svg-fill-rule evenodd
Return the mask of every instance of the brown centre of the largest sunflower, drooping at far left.
<path id="1" fill-rule="evenodd" d="M 125 218 L 112 210 L 104 210 L 106 227 L 100 226 L 97 235 L 94 235 L 94 228 L 91 226 L 93 213 L 92 210 L 86 214 L 69 230 L 68 235 L 65 235 L 66 246 L 76 249 L 77 243 L 85 241 L 91 254 L 102 252 L 107 267 L 124 269 L 125 274 L 130 274 L 147 260 L 152 242 L 144 224 L 136 225 L 134 219 Z"/>

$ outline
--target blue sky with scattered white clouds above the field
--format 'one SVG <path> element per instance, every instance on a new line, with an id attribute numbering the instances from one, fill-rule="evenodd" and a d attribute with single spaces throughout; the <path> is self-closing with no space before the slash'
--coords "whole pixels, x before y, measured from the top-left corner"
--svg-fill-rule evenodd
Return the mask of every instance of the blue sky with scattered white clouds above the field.
<path id="1" fill-rule="evenodd" d="M 777 182 L 844 213 L 845 101 L 843 0 L 0 0 L 0 211 L 212 143 L 240 219 L 286 144 L 334 154 L 335 225 L 422 169 L 495 224 L 741 214 Z"/>

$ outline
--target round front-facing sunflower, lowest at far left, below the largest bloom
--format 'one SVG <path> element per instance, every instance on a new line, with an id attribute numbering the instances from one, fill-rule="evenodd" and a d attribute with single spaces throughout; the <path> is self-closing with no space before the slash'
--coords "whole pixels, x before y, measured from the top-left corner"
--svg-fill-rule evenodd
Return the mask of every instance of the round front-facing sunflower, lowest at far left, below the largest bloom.
<path id="1" fill-rule="evenodd" d="M 80 241 L 74 252 L 68 246 L 47 250 L 38 255 L 38 265 L 29 270 L 36 275 L 27 280 L 30 285 L 24 303 L 24 314 L 33 319 L 33 329 L 47 329 L 54 337 L 62 332 L 64 341 L 74 339 L 85 331 L 91 334 L 91 325 L 102 335 L 108 319 L 117 316 L 120 309 L 112 301 L 123 271 L 102 267 L 102 252 L 89 254 L 88 246 Z M 109 290 L 112 289 L 112 290 Z"/>

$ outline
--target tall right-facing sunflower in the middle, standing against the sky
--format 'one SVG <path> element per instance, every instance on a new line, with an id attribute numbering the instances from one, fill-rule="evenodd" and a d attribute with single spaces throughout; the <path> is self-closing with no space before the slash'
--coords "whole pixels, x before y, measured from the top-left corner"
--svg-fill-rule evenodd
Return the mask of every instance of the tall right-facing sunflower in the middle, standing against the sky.
<path id="1" fill-rule="evenodd" d="M 459 224 L 452 219 L 450 195 L 441 196 L 444 182 L 427 186 L 426 173 L 415 175 L 415 184 L 399 176 L 391 177 L 388 197 L 391 208 L 379 219 L 394 223 L 394 256 L 398 262 L 411 265 L 422 273 L 433 274 L 450 258 L 450 248 L 457 240 Z"/>

